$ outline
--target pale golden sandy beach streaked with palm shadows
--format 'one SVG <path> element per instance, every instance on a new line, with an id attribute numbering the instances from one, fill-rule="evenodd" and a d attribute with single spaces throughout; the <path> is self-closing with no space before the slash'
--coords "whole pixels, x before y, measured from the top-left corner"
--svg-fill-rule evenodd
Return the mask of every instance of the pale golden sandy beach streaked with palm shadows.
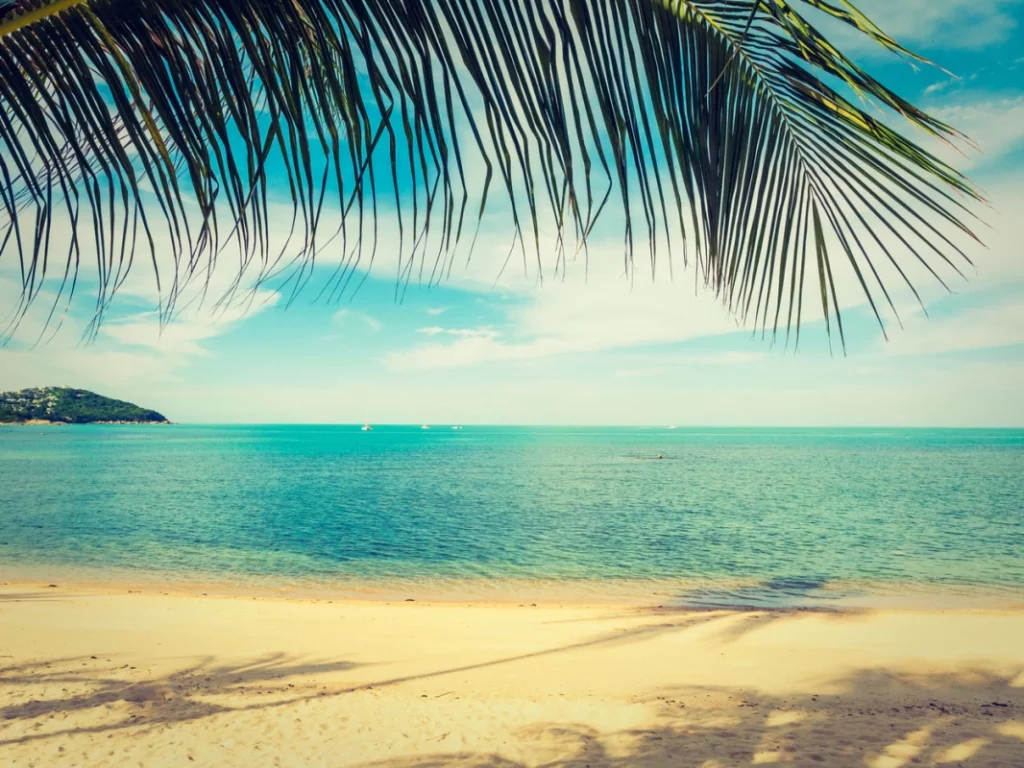
<path id="1" fill-rule="evenodd" d="M 1024 611 L 0 588 L 11 766 L 1024 765 Z"/>

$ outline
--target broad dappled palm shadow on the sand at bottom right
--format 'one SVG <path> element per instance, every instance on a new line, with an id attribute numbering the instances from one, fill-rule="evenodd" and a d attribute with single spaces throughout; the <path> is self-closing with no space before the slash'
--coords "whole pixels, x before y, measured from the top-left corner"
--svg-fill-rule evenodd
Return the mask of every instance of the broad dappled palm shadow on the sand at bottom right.
<path id="1" fill-rule="evenodd" d="M 1024 688 L 984 671 L 914 676 L 874 669 L 828 694 L 768 696 L 679 688 L 650 702 L 643 729 L 600 732 L 539 723 L 494 753 L 424 753 L 359 768 L 1021 768 Z M 541 755 L 521 761 L 515 753 Z"/>

